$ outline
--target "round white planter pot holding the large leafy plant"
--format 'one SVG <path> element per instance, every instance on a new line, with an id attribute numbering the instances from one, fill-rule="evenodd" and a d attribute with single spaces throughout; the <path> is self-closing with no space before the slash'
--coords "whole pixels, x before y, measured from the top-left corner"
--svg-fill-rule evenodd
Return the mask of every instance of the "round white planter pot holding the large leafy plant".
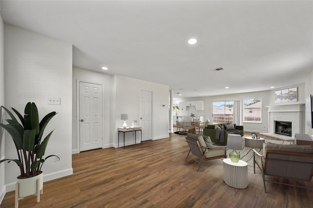
<path id="1" fill-rule="evenodd" d="M 31 178 L 17 179 L 19 184 L 19 197 L 25 197 L 37 193 L 37 179 L 40 180 L 40 189 L 44 186 L 44 174 L 41 173 Z M 39 191 L 38 190 L 38 191 Z"/>

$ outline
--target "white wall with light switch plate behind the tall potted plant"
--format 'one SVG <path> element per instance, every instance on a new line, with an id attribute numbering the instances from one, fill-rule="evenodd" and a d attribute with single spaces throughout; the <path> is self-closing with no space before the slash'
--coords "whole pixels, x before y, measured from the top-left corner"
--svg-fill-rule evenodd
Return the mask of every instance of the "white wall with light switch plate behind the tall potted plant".
<path id="1" fill-rule="evenodd" d="M 38 33 L 4 24 L 5 106 L 23 112 L 27 102 L 36 103 L 39 118 L 56 111 L 45 128 L 53 134 L 45 155 L 60 154 L 60 161 L 48 159 L 44 181 L 73 173 L 72 170 L 72 45 Z M 47 104 L 47 98 L 61 98 L 61 105 Z M 5 134 L 5 158 L 16 158 L 11 137 Z M 5 163 L 6 191 L 15 189 L 19 168 Z"/>

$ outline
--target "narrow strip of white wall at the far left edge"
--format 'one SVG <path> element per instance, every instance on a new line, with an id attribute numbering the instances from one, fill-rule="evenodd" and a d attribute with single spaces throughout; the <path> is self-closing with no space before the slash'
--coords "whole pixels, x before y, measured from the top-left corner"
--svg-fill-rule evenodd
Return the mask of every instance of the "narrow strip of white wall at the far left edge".
<path id="1" fill-rule="evenodd" d="M 1 10 L 1 9 L 0 9 Z M 4 24 L 0 17 L 0 105 L 4 105 Z M 3 115 L 0 112 L 0 121 L 3 122 Z M 4 159 L 4 134 L 0 133 L 0 160 Z M 4 184 L 4 163 L 0 164 L 0 203 L 5 195 L 6 189 Z"/>

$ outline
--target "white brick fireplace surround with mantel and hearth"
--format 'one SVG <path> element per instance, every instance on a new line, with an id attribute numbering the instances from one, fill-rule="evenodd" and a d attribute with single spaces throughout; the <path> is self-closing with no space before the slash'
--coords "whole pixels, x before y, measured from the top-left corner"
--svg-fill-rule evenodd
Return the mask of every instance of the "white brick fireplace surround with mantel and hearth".
<path id="1" fill-rule="evenodd" d="M 260 134 L 284 140 L 294 140 L 294 134 L 303 134 L 305 129 L 305 104 L 266 106 L 268 108 L 268 133 Z M 291 137 L 275 134 L 275 121 L 291 122 Z"/>

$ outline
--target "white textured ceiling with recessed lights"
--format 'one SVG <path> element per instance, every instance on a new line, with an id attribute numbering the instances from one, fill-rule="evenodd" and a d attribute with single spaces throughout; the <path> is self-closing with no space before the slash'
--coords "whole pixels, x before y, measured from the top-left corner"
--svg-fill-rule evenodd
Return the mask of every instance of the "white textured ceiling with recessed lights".
<path id="1" fill-rule="evenodd" d="M 5 23 L 72 43 L 74 66 L 166 84 L 175 97 L 285 87 L 313 69 L 313 1 L 1 0 L 0 7 Z M 188 45 L 191 37 L 198 43 Z"/>

